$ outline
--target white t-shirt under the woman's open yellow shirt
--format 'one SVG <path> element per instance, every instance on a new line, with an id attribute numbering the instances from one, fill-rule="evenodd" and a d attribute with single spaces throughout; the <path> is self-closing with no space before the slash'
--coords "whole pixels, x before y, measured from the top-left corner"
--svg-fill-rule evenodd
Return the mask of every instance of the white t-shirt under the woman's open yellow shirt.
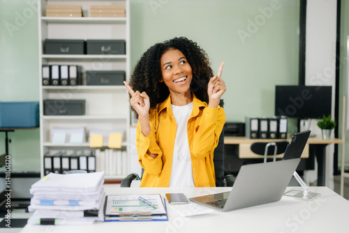
<path id="1" fill-rule="evenodd" d="M 188 119 L 193 111 L 193 102 L 184 106 L 171 105 L 171 107 L 177 123 L 177 133 L 172 156 L 170 187 L 195 187 L 187 133 Z"/>

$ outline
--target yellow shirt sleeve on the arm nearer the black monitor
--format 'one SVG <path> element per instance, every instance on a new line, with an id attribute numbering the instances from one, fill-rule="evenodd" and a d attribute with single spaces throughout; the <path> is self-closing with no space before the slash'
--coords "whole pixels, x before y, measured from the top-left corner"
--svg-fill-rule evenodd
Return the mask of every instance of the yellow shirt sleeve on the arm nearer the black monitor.
<path id="1" fill-rule="evenodd" d="M 194 131 L 192 153 L 197 158 L 208 156 L 218 145 L 225 123 L 225 112 L 223 107 L 205 107 L 198 130 Z"/>

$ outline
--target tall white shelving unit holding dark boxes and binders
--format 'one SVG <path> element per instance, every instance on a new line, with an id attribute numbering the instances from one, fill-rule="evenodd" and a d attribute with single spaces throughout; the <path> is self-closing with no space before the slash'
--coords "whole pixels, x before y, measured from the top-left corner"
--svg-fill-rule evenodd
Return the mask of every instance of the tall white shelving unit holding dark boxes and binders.
<path id="1" fill-rule="evenodd" d="M 83 17 L 45 17 L 47 4 L 82 6 Z M 124 5 L 126 17 L 89 17 L 92 5 Z M 129 153 L 130 107 L 128 92 L 124 86 L 43 86 L 42 66 L 77 65 L 86 70 L 124 70 L 130 76 L 130 4 L 129 0 L 46 0 L 38 1 L 38 47 L 40 83 L 40 171 L 44 176 L 43 156 L 47 151 L 91 151 L 89 142 L 81 144 L 54 144 L 50 139 L 51 128 L 85 128 L 89 130 L 122 130 L 121 145 Z M 60 55 L 44 54 L 46 38 L 50 39 L 122 39 L 126 40 L 125 55 Z M 43 100 L 84 99 L 83 116 L 45 116 Z M 103 145 L 107 146 L 107 145 Z M 129 156 L 127 156 L 129 158 Z M 127 162 L 130 167 L 130 161 Z M 129 168 L 119 176 L 105 179 L 121 180 Z"/>

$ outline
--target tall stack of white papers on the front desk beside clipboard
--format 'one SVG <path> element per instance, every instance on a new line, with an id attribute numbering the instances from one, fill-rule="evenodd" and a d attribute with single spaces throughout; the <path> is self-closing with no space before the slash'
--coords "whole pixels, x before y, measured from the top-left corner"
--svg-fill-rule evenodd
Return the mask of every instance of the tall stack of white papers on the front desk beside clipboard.
<path id="1" fill-rule="evenodd" d="M 50 173 L 31 186 L 28 224 L 87 225 L 103 221 L 104 172 Z"/>

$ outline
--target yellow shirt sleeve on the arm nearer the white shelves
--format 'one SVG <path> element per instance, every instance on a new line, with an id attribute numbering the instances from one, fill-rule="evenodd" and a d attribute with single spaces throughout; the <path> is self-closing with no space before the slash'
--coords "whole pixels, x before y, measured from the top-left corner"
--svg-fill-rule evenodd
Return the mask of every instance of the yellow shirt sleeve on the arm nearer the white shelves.
<path id="1" fill-rule="evenodd" d="M 140 122 L 138 121 L 136 132 L 138 162 L 143 167 L 143 169 L 147 171 L 147 173 L 151 175 L 158 175 L 163 168 L 163 161 L 161 159 L 163 152 L 156 143 L 156 129 L 154 127 L 154 123 L 152 123 L 151 121 L 149 123 L 151 131 L 149 135 L 145 137 L 140 130 Z M 156 158 L 152 158 L 147 154 L 148 150 L 151 153 L 158 154 L 158 156 Z"/>

